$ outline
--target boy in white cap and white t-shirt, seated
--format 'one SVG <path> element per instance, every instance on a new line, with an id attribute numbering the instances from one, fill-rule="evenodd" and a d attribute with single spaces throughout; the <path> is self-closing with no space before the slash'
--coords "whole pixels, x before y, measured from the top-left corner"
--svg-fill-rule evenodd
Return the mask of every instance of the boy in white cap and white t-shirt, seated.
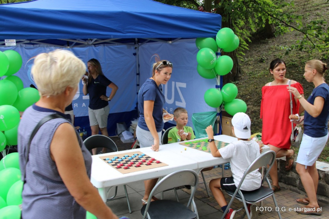
<path id="1" fill-rule="evenodd" d="M 220 148 L 219 150 L 215 146 L 213 140 L 213 127 L 208 126 L 206 132 L 208 134 L 209 147 L 213 157 L 223 157 L 224 159 L 230 159 L 232 177 L 224 177 L 213 179 L 209 183 L 209 187 L 213 192 L 213 196 L 217 203 L 221 206 L 223 212 L 227 208 L 227 202 L 225 200 L 223 192 L 220 188 L 225 190 L 236 190 L 236 186 L 240 183 L 240 180 L 248 168 L 248 166 L 260 155 L 259 145 L 250 140 L 251 121 L 246 113 L 238 112 L 232 118 L 232 133 L 237 137 L 237 141 L 232 142 L 230 145 Z M 249 173 L 243 184 L 240 187 L 242 191 L 256 190 L 261 186 L 261 174 L 258 169 Z M 248 210 L 252 218 L 257 218 L 258 215 L 255 212 L 255 206 L 248 204 Z M 236 211 L 230 208 L 225 215 L 225 219 L 233 219 Z"/>

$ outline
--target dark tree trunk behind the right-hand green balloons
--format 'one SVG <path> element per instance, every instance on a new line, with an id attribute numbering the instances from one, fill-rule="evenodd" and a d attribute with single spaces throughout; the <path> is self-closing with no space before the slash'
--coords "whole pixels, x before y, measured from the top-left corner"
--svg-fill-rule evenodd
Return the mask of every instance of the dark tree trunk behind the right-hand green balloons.
<path id="1" fill-rule="evenodd" d="M 216 5 L 218 5 L 219 0 L 215 0 L 215 3 L 216 3 Z M 225 14 L 224 8 L 217 8 L 216 13 L 220 14 L 220 15 L 224 15 Z M 225 22 L 222 21 L 222 28 L 229 27 L 229 28 L 233 29 L 231 18 L 229 18 L 227 20 L 228 21 L 225 21 Z M 232 82 L 232 81 L 236 81 L 239 78 L 239 75 L 241 74 L 241 71 L 242 71 L 240 68 L 240 65 L 239 65 L 239 60 L 237 57 L 236 50 L 234 50 L 233 52 L 230 52 L 230 53 L 222 52 L 221 55 L 228 55 L 233 60 L 233 68 L 232 68 L 231 73 L 224 75 L 224 80 L 223 80 L 224 84 Z"/>

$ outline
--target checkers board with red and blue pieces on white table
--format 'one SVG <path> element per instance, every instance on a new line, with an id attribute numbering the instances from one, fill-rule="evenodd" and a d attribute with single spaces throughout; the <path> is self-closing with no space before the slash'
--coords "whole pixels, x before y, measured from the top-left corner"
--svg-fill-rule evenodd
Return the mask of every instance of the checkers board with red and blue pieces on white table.
<path id="1" fill-rule="evenodd" d="M 101 156 L 99 158 L 123 174 L 140 170 L 153 169 L 161 166 L 168 166 L 168 164 L 164 164 L 155 158 L 151 158 L 147 154 L 144 154 L 140 151 Z"/>

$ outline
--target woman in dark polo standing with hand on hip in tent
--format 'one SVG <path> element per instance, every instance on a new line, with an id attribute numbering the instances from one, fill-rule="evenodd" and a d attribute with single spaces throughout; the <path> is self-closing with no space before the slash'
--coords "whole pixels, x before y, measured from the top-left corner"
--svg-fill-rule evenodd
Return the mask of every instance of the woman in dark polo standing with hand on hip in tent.
<path id="1" fill-rule="evenodd" d="M 112 100 L 118 87 L 115 83 L 107 79 L 102 72 L 102 67 L 96 58 L 92 58 L 87 63 L 89 78 L 83 78 L 83 94 L 89 93 L 89 123 L 92 135 L 97 135 L 99 130 L 102 135 L 109 136 L 107 133 L 107 118 L 110 113 L 109 101 Z M 106 96 L 106 88 L 112 89 L 109 97 Z M 92 149 L 93 155 L 96 149 Z M 106 148 L 102 149 L 102 153 L 106 152 Z"/>

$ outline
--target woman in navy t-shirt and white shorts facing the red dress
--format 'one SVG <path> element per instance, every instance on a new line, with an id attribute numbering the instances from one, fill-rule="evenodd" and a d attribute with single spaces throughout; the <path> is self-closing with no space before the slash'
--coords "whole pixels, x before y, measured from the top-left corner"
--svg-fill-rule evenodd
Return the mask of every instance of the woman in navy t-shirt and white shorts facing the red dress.
<path id="1" fill-rule="evenodd" d="M 316 200 L 319 175 L 315 161 L 328 140 L 329 86 L 324 79 L 324 72 L 327 69 L 327 65 L 320 60 L 306 62 L 304 77 L 315 87 L 307 100 L 296 88 L 287 88 L 299 99 L 305 109 L 304 116 L 296 122 L 299 124 L 304 120 L 304 134 L 296 161 L 296 171 L 308 195 L 308 198 L 296 200 L 298 203 L 306 204 L 304 208 L 297 211 L 300 214 L 321 215 L 322 213 Z"/>

